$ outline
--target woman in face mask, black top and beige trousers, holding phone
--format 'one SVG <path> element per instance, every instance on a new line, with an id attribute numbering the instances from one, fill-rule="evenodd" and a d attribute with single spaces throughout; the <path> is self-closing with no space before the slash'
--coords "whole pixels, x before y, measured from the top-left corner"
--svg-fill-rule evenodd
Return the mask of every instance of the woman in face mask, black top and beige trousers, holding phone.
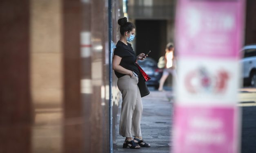
<path id="1" fill-rule="evenodd" d="M 144 53 L 136 56 L 131 44 L 135 37 L 135 26 L 127 22 L 127 18 L 118 20 L 120 25 L 120 40 L 116 44 L 113 57 L 113 70 L 118 77 L 118 89 L 122 93 L 122 110 L 120 116 L 119 134 L 126 137 L 123 148 L 140 149 L 150 147 L 143 139 L 140 129 L 142 116 L 142 101 L 138 88 L 138 75 L 140 71 L 136 65 L 137 60 L 144 60 Z M 128 42 L 127 42 L 128 41 Z M 132 137 L 134 136 L 134 140 Z"/>

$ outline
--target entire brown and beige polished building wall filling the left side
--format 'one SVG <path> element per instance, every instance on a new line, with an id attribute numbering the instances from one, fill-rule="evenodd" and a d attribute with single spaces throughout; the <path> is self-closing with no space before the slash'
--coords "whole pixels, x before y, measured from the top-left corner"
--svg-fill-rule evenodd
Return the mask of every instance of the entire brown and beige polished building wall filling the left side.
<path id="1" fill-rule="evenodd" d="M 2 0 L 0 13 L 0 152 L 109 152 L 108 0 Z"/>

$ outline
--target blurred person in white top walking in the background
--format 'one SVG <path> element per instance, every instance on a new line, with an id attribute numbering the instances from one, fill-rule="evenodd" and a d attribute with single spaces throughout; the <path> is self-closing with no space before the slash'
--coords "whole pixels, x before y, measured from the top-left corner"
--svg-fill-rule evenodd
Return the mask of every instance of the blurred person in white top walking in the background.
<path id="1" fill-rule="evenodd" d="M 176 82 L 176 60 L 174 57 L 174 44 L 172 43 L 168 43 L 165 48 L 165 68 L 163 70 L 163 76 L 160 79 L 158 91 L 163 91 L 163 85 L 169 74 L 172 74 L 172 77 Z"/>

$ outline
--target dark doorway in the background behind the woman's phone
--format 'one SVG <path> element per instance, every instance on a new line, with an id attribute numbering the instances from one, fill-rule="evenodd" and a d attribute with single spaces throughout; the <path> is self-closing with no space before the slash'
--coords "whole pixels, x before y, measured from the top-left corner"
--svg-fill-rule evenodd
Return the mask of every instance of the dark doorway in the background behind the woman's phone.
<path id="1" fill-rule="evenodd" d="M 136 20 L 136 52 L 147 53 L 151 50 L 149 57 L 158 62 L 165 55 L 167 44 L 166 20 Z"/>

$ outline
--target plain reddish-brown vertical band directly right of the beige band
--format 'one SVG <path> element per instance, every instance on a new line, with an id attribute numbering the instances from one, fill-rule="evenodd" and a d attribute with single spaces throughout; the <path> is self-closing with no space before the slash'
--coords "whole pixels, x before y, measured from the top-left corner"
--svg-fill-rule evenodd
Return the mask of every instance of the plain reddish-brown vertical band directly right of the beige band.
<path id="1" fill-rule="evenodd" d="M 80 92 L 80 0 L 62 0 L 64 60 L 64 137 L 65 153 L 85 153 L 85 106 Z"/>

